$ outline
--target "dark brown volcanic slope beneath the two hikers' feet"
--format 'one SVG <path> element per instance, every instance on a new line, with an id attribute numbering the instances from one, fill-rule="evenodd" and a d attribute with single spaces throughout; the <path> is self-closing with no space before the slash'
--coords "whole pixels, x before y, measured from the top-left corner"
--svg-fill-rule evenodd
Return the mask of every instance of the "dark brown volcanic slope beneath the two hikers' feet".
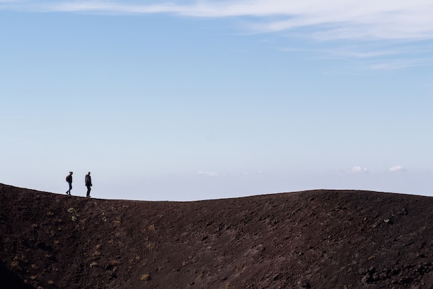
<path id="1" fill-rule="evenodd" d="M 0 288 L 433 288 L 433 198 L 97 200 L 0 184 Z"/>

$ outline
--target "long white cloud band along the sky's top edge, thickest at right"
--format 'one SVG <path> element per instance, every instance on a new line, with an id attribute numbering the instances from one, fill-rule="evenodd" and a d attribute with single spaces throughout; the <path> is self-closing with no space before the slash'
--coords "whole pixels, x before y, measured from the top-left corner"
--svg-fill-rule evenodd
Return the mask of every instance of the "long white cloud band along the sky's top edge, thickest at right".
<path id="1" fill-rule="evenodd" d="M 3 4 L 6 3 L 6 4 Z M 119 14 L 169 13 L 190 17 L 245 17 L 255 33 L 302 28 L 317 40 L 430 40 L 431 0 L 232 0 L 169 1 L 4 1 L 0 9 Z"/>

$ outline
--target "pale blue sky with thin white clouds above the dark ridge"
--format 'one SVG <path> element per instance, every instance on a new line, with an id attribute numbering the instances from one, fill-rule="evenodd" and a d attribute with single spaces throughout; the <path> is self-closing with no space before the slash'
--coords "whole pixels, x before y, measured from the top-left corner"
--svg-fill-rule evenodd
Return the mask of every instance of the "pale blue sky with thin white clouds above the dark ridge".
<path id="1" fill-rule="evenodd" d="M 0 0 L 0 183 L 433 195 L 431 0 Z"/>

